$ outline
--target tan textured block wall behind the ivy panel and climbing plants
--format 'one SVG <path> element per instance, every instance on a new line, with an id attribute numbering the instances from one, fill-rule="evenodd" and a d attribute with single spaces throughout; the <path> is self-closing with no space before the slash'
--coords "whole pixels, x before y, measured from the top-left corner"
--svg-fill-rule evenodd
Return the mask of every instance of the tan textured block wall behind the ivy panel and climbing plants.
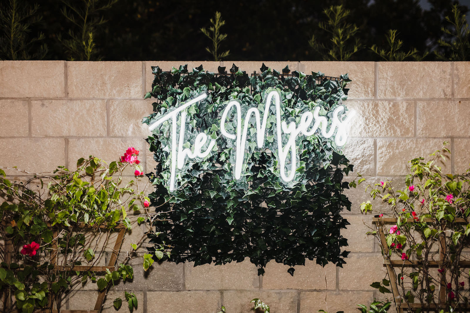
<path id="1" fill-rule="evenodd" d="M 204 69 L 230 68 L 232 62 L 66 62 L 0 61 L 0 165 L 31 172 L 56 165 L 72 167 L 80 157 L 94 154 L 115 160 L 128 146 L 147 151 L 148 132 L 140 123 L 152 111 L 150 66 L 164 70 L 188 63 Z M 235 64 L 247 72 L 259 71 L 262 62 Z M 271 68 L 329 76 L 349 73 L 353 82 L 347 105 L 358 112 L 346 147 L 357 172 L 373 181 L 384 177 L 402 180 L 405 162 L 426 156 L 442 142 L 451 143 L 452 158 L 445 170 L 460 173 L 470 162 L 470 63 L 468 62 L 265 62 Z M 153 168 L 150 153 L 143 153 L 145 171 Z M 22 179 L 8 171 L 12 179 Z M 132 173 L 127 173 L 131 179 Z M 24 177 L 23 177 L 24 178 Z M 360 214 L 359 204 L 369 198 L 364 188 L 347 191 L 353 206 L 345 212 L 351 226 L 344 231 L 351 251 L 344 268 L 320 267 L 309 262 L 287 268 L 273 262 L 261 277 L 249 261 L 226 266 L 154 263 L 150 273 L 135 266 L 132 283 L 111 290 L 112 299 L 123 290 L 139 300 L 137 313 L 250 312 L 252 298 L 261 298 L 273 313 L 309 313 L 319 309 L 357 312 L 355 305 L 384 296 L 369 287 L 385 275 L 374 239 L 365 236 L 371 216 Z M 134 229 L 123 250 L 140 238 Z M 92 309 L 95 286 L 79 290 L 66 308 Z M 111 301 L 110 301 L 111 300 Z M 127 309 L 123 304 L 125 312 Z"/>

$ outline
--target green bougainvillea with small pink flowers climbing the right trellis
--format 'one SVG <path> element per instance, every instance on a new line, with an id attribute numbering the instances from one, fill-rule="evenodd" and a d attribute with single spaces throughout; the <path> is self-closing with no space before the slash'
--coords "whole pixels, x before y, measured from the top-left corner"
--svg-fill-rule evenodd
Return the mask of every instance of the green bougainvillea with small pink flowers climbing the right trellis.
<path id="1" fill-rule="evenodd" d="M 381 206 L 378 217 L 395 217 L 396 224 L 380 224 L 386 243 L 378 231 L 377 240 L 388 246 L 383 251 L 388 259 L 417 260 L 407 267 L 393 267 L 401 298 L 405 303 L 436 303 L 438 310 L 449 312 L 453 303 L 467 303 L 469 295 L 468 268 L 464 260 L 470 246 L 470 170 L 462 175 L 443 174 L 439 162 L 450 154 L 446 148 L 431 154 L 430 160 L 419 157 L 409 161 L 405 190 L 393 187 L 389 180 L 367 183 L 371 197 L 380 197 L 388 204 Z M 372 211 L 371 207 L 367 211 Z M 362 208 L 361 208 L 362 209 Z M 375 211 L 375 210 L 374 210 Z M 364 213 L 367 213 L 363 209 Z M 375 211 L 376 212 L 376 211 Z M 441 246 L 443 257 L 437 252 Z M 431 269 L 431 262 L 439 260 L 439 271 Z M 380 292 L 390 292 L 389 281 L 374 282 L 371 286 Z M 446 288 L 447 301 L 439 303 L 439 285 Z M 397 297 L 397 295 L 394 295 Z"/>

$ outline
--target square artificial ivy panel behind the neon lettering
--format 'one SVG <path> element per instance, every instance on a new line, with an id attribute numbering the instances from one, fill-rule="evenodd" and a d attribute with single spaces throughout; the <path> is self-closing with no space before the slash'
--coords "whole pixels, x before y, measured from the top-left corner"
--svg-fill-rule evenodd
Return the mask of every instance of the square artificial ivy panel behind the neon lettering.
<path id="1" fill-rule="evenodd" d="M 277 139 L 275 108 L 271 106 L 266 145 L 262 149 L 256 146 L 253 118 L 247 132 L 242 175 L 235 179 L 235 140 L 221 136 L 220 119 L 227 101 L 233 99 L 241 104 L 242 117 L 249 107 L 258 107 L 263 116 L 265 97 L 273 90 L 280 94 L 281 116 L 287 124 L 298 124 L 302 112 L 319 105 L 320 114 L 331 117 L 332 110 L 347 99 L 347 74 L 329 80 L 320 72 L 305 75 L 295 71 L 288 75 L 287 67 L 281 74 L 264 64 L 260 74 L 251 76 L 235 65 L 227 75 L 204 72 L 202 65 L 191 72 L 186 65 L 171 72 L 158 67 L 152 67 L 152 71 L 155 80 L 146 97 L 158 100 L 153 104 L 154 113 L 143 122 L 151 124 L 182 102 L 206 92 L 207 98 L 185 110 L 183 146 L 194 145 L 200 132 L 217 140 L 207 157 L 186 158 L 182 167 L 176 168 L 176 187 L 170 191 L 171 119 L 147 139 L 157 161 L 155 172 L 148 174 L 156 189 L 149 197 L 156 211 L 164 212 L 153 221 L 155 232 L 149 240 L 156 248 L 163 243 L 172 247 L 162 260 L 194 261 L 197 266 L 241 262 L 248 257 L 259 266 L 258 275 L 264 273 L 270 260 L 288 265 L 291 275 L 293 266 L 304 265 L 305 259 L 341 267 L 349 252 L 342 251 L 347 239 L 340 230 L 349 223 L 340 213 L 344 208 L 351 209 L 351 202 L 343 194 L 348 188 L 343 177 L 352 170 L 341 147 L 331 138 L 319 136 L 318 131 L 308 137 L 299 136 L 295 178 L 289 183 L 282 181 L 278 152 L 272 148 Z M 225 68 L 219 68 L 219 72 L 225 73 Z M 229 133 L 234 133 L 237 126 L 236 111 L 232 111 L 225 124 Z M 178 119 L 180 130 L 181 117 Z M 292 156 L 288 156 L 287 164 L 291 161 Z M 161 257 L 161 253 L 156 255 Z"/>

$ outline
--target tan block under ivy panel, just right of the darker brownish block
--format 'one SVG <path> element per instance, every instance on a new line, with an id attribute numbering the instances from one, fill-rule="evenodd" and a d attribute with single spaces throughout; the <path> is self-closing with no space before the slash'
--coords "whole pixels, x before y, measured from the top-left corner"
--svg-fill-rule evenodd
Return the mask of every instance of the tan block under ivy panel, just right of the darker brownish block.
<path id="1" fill-rule="evenodd" d="M 258 269 L 247 258 L 225 265 L 185 264 L 186 289 L 253 289 L 259 287 Z"/>

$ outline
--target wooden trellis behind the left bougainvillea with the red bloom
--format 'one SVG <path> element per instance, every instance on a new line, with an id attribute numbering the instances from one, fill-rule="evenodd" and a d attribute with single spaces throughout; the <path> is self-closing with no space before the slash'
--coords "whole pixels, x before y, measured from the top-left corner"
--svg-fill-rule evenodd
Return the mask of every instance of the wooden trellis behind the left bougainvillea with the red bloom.
<path id="1" fill-rule="evenodd" d="M 73 267 L 65 267 L 61 265 L 57 265 L 57 239 L 52 241 L 52 252 L 51 252 L 51 263 L 54 265 L 54 269 L 57 271 L 78 271 L 78 272 L 106 272 L 107 269 L 109 269 L 111 272 L 115 270 L 116 268 L 116 261 L 118 260 L 118 253 L 121 250 L 121 245 L 122 241 L 124 239 L 124 234 L 125 234 L 125 226 L 124 225 L 118 225 L 114 227 L 114 229 L 119 229 L 118 236 L 116 237 L 116 242 L 114 244 L 113 252 L 110 257 L 110 261 L 108 262 L 107 266 L 86 266 L 86 265 L 80 265 L 80 266 L 73 266 Z M 54 238 L 57 238 L 57 230 L 54 232 Z M 8 260 L 11 260 L 11 254 L 12 254 L 12 249 L 8 249 L 8 246 L 11 245 L 10 241 L 6 241 L 6 255 L 5 255 L 5 260 L 7 263 L 9 263 Z M 93 310 L 60 310 L 61 313 L 99 313 L 101 311 L 101 308 L 104 303 L 104 298 L 106 297 L 106 288 L 102 291 L 98 291 L 98 298 L 96 299 L 96 303 L 94 305 Z M 7 300 L 11 298 L 10 295 L 5 295 L 7 297 Z M 52 305 L 52 296 L 49 297 L 49 305 Z M 6 307 L 11 306 L 11 302 L 7 302 Z M 21 310 L 16 310 L 13 311 L 12 313 L 20 313 Z M 50 312 L 48 310 L 40 310 L 40 311 L 34 311 L 35 313 L 37 312 Z M 52 310 L 52 313 L 58 313 L 58 310 Z"/>

